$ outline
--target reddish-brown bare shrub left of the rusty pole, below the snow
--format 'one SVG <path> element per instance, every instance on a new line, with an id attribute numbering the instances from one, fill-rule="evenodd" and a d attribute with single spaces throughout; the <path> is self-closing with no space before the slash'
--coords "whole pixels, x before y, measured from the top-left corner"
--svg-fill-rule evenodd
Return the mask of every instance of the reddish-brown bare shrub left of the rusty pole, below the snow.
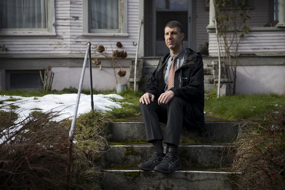
<path id="1" fill-rule="evenodd" d="M 10 115 L 14 114 L 4 117 L 10 125 L 0 129 L 0 186 L 49 189 L 65 185 L 68 130 L 51 122 L 58 115 L 30 114 L 19 122 Z"/>

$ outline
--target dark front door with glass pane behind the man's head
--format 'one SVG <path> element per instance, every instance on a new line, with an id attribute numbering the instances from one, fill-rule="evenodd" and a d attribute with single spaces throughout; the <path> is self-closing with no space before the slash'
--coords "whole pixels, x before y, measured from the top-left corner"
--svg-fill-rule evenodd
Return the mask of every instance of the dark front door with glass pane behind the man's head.
<path id="1" fill-rule="evenodd" d="M 164 27 L 171 20 L 176 20 L 183 25 L 185 34 L 183 45 L 184 47 L 191 47 L 192 0 L 154 0 L 152 2 L 154 8 L 154 25 L 152 27 L 154 56 L 163 56 L 169 52 L 164 40 Z"/>

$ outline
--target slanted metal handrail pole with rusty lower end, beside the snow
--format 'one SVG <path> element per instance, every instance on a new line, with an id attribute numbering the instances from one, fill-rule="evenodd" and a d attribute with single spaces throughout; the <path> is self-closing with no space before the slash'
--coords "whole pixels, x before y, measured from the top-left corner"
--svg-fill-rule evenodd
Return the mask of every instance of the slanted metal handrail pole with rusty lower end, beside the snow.
<path id="1" fill-rule="evenodd" d="M 83 63 L 83 68 L 82 68 L 82 73 L 81 73 L 81 78 L 80 78 L 80 83 L 79 83 L 78 92 L 77 92 L 75 109 L 74 109 L 72 123 L 71 123 L 70 131 L 69 131 L 66 190 L 69 190 L 69 180 L 70 180 L 70 171 L 71 171 L 71 163 L 72 163 L 72 143 L 73 143 L 73 138 L 74 138 L 74 128 L 75 128 L 75 122 L 76 122 L 76 116 L 77 116 L 77 111 L 78 111 L 78 105 L 79 105 L 81 89 L 82 89 L 82 84 L 83 84 L 83 79 L 84 79 L 84 73 L 85 73 L 85 68 L 86 68 L 87 56 L 88 56 L 88 52 L 90 51 L 90 46 L 91 46 L 91 43 L 88 42 L 87 43 L 86 53 L 85 53 L 85 58 L 84 58 L 84 63 Z"/>

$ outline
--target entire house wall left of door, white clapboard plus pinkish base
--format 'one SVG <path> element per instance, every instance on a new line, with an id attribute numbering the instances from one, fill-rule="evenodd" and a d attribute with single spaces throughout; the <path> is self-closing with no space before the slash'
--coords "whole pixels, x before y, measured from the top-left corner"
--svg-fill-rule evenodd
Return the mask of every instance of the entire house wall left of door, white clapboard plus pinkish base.
<path id="1" fill-rule="evenodd" d="M 131 60 L 135 58 L 138 41 L 138 0 L 128 0 L 125 9 L 128 9 L 127 33 L 124 35 L 86 35 L 82 31 L 83 16 L 82 1 L 85 0 L 55 0 L 55 31 L 52 34 L 0 34 L 1 45 L 4 44 L 10 51 L 0 52 L 1 81 L 0 89 L 5 89 L 6 70 L 44 69 L 52 66 L 55 73 L 52 89 L 78 88 L 82 66 L 84 62 L 87 42 L 91 42 L 92 58 L 103 58 L 96 53 L 98 44 L 104 45 L 109 55 L 112 48 L 117 49 L 116 43 L 121 42 L 128 56 L 120 61 L 129 76 Z M 86 0 L 87 1 L 87 0 Z M 88 64 L 87 64 L 88 65 Z M 102 60 L 102 69 L 93 65 L 93 88 L 115 89 L 114 70 L 108 61 Z M 120 69 L 116 65 L 116 72 Z M 86 69 L 88 70 L 88 69 Z M 88 70 L 89 72 L 89 70 Z M 118 75 L 117 75 L 118 77 Z M 89 74 L 85 75 L 84 84 L 89 83 Z M 96 85 L 94 85 L 96 84 Z M 87 85 L 87 84 L 86 84 Z M 89 88 L 89 85 L 83 88 Z"/>

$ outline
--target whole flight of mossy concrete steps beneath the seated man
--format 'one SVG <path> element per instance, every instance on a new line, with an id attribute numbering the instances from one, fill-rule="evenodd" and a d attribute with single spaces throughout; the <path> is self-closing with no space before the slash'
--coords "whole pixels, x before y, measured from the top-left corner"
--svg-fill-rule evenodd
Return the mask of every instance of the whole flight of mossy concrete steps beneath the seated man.
<path id="1" fill-rule="evenodd" d="M 161 123 L 161 127 L 164 133 L 166 125 Z M 105 157 L 106 166 L 112 168 L 104 171 L 103 189 L 237 190 L 232 177 L 239 174 L 226 169 L 231 161 L 225 142 L 236 137 L 238 128 L 235 122 L 206 122 L 199 130 L 183 128 L 178 152 L 182 168 L 164 174 L 137 167 L 154 152 L 151 143 L 143 143 L 146 142 L 143 122 L 112 123 L 108 126 L 111 137 Z M 195 143 L 181 143 L 187 140 Z"/>

